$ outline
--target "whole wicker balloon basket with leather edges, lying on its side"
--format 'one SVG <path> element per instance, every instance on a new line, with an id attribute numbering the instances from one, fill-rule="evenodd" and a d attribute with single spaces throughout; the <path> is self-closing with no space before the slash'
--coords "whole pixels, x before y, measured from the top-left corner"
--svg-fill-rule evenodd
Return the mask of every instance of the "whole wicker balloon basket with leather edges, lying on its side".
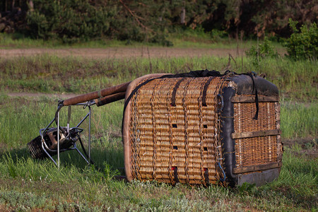
<path id="1" fill-rule="evenodd" d="M 122 129 L 127 179 L 235 186 L 278 177 L 276 86 L 252 74 L 200 74 L 130 83 Z"/>

